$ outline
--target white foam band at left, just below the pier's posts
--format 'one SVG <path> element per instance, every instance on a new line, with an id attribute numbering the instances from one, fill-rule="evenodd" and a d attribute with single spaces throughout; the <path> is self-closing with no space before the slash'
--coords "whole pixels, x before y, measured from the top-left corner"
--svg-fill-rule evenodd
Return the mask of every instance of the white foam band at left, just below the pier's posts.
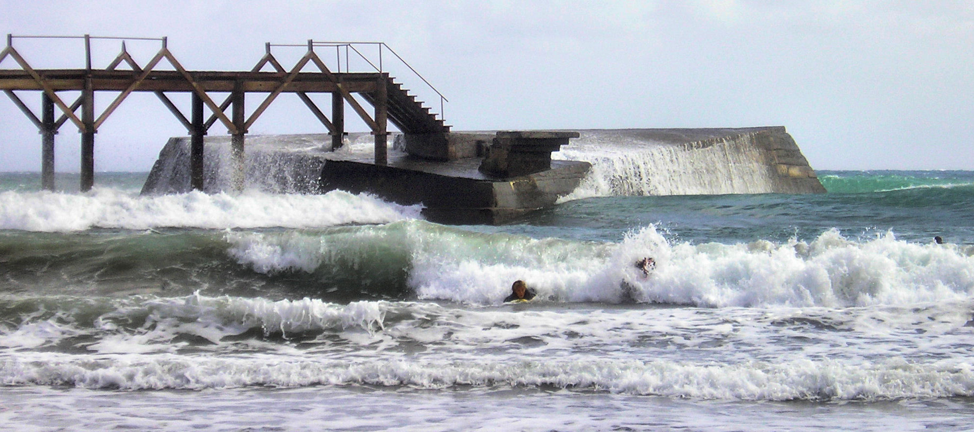
<path id="1" fill-rule="evenodd" d="M 418 206 L 398 206 L 368 194 L 322 195 L 226 193 L 139 196 L 95 187 L 86 194 L 0 193 L 0 229 L 79 231 L 93 227 L 147 229 L 311 228 L 347 223 L 385 223 L 419 217 Z"/>

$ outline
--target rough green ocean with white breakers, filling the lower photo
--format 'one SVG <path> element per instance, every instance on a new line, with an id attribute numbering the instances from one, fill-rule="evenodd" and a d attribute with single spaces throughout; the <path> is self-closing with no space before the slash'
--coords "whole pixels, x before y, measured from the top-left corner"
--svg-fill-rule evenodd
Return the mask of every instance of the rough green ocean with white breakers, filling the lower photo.
<path id="1" fill-rule="evenodd" d="M 0 174 L 0 425 L 974 430 L 974 172 L 817 174 L 595 181 L 500 226 Z M 515 280 L 538 297 L 502 303 Z"/>

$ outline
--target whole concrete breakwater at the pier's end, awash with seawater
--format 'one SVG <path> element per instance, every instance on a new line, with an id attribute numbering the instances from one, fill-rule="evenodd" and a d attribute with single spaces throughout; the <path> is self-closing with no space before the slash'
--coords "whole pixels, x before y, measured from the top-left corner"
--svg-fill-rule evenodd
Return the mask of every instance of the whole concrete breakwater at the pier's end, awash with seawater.
<path id="1" fill-rule="evenodd" d="M 422 203 L 428 218 L 452 223 L 501 223 L 558 199 L 591 196 L 825 191 L 783 127 L 575 134 L 453 132 L 436 137 L 437 154 L 424 147 L 425 137 L 393 135 L 389 163 L 380 166 L 367 134 L 350 134 L 336 150 L 328 135 L 251 136 L 245 181 L 271 192 L 368 191 Z M 516 148 L 505 139 L 522 136 L 535 144 L 516 148 L 540 152 L 508 166 L 502 156 Z M 561 139 L 560 148 L 552 139 Z M 188 137 L 170 138 L 142 193 L 191 190 L 189 152 Z M 232 189 L 232 161 L 229 137 L 206 138 L 205 191 Z"/>

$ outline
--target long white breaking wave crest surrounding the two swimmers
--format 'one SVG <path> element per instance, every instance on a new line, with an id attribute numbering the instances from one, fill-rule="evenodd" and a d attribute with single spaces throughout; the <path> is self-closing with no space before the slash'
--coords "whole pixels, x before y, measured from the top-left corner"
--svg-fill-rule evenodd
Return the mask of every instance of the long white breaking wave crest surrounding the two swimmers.
<path id="1" fill-rule="evenodd" d="M 542 301 L 708 307 L 915 304 L 974 295 L 974 256 L 952 246 L 899 241 L 892 233 L 849 240 L 829 230 L 810 244 L 694 245 L 670 242 L 651 225 L 619 243 L 597 243 L 410 221 L 368 228 L 340 244 L 303 233 L 234 234 L 228 240 L 232 255 L 264 273 L 313 272 L 339 254 L 356 255 L 353 262 L 378 259 L 363 251 L 392 244 L 393 255 L 408 256 L 408 284 L 419 298 L 474 304 L 499 303 L 518 279 Z M 634 265 L 643 256 L 656 259 L 648 278 Z"/>

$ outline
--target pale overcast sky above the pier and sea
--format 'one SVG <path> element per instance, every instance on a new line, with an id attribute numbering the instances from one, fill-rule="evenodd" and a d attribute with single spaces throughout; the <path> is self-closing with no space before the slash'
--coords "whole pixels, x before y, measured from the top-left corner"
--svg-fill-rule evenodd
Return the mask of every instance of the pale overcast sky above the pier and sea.
<path id="1" fill-rule="evenodd" d="M 265 42 L 383 41 L 449 98 L 457 131 L 782 125 L 817 170 L 974 169 L 969 0 L 0 0 L 0 31 L 168 36 L 190 70 L 249 69 Z M 81 41 L 14 46 L 36 68 L 84 67 Z M 128 44 L 143 64 L 159 48 Z M 95 41 L 94 67 L 119 51 Z M 333 64 L 334 51 L 319 51 Z M 275 48 L 288 68 L 303 52 Z M 40 105 L 36 92 L 19 95 Z M 100 111 L 115 95 L 95 98 Z M 173 100 L 188 113 L 188 97 Z M 247 110 L 258 103 L 251 96 Z M 292 95 L 250 129 L 323 132 Z M 133 95 L 99 129 L 95 170 L 148 171 L 168 137 L 185 135 L 157 98 Z M 65 124 L 56 139 L 57 171 L 79 171 L 77 128 Z M 39 170 L 37 130 L 0 96 L 0 171 Z"/>

